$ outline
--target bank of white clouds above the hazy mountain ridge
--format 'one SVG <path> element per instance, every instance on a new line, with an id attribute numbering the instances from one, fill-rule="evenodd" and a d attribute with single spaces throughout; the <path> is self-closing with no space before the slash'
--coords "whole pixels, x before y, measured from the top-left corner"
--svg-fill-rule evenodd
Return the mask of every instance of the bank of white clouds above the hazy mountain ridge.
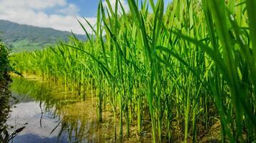
<path id="1" fill-rule="evenodd" d="M 56 14 L 47 14 L 47 9 L 54 9 Z M 62 31 L 72 30 L 76 34 L 85 34 L 77 19 L 83 21 L 86 30 L 90 27 L 78 15 L 78 7 L 66 0 L 0 0 L 0 19 L 19 24 L 50 27 Z M 92 25 L 96 18 L 86 18 Z"/>

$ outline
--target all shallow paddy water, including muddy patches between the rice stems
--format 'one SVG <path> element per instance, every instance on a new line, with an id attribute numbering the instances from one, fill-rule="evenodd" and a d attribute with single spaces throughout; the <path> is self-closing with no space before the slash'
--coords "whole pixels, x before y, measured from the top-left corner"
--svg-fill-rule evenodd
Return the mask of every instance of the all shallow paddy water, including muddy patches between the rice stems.
<path id="1" fill-rule="evenodd" d="M 10 131 L 26 126 L 24 132 L 14 138 L 15 142 L 121 142 L 119 124 L 116 124 L 115 134 L 114 116 L 108 103 L 104 104 L 103 120 L 99 122 L 97 98 L 90 94 L 83 101 L 77 92 L 63 92 L 63 87 L 58 84 L 42 81 L 35 76 L 12 79 L 11 90 L 19 103 L 12 107 Z M 150 117 L 147 115 L 144 118 L 140 134 L 137 133 L 136 122 L 129 124 L 129 137 L 126 122 L 123 122 L 122 142 L 152 142 Z M 119 114 L 116 114 L 116 123 L 118 119 Z M 182 142 L 183 131 L 177 122 L 173 122 L 172 128 L 172 140 Z M 199 142 L 219 142 L 219 122 L 209 131 L 205 131 L 203 126 L 198 129 Z M 162 142 L 168 142 L 167 137 L 168 134 L 164 133 Z M 189 137 L 188 142 L 192 142 Z"/>

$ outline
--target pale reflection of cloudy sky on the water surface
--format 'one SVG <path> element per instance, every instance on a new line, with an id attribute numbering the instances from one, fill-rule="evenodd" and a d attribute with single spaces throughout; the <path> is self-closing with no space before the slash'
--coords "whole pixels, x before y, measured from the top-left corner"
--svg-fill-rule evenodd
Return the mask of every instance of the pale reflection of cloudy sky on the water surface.
<path id="1" fill-rule="evenodd" d="M 22 126 L 26 128 L 12 142 L 57 142 L 61 127 L 58 126 L 60 119 L 52 118 L 51 112 L 41 112 L 39 102 L 24 102 L 15 105 L 8 119 L 8 124 L 17 129 Z M 45 104 L 42 105 L 45 107 Z M 53 127 L 57 127 L 55 132 Z M 65 134 L 60 138 L 60 142 L 68 142 Z"/>

